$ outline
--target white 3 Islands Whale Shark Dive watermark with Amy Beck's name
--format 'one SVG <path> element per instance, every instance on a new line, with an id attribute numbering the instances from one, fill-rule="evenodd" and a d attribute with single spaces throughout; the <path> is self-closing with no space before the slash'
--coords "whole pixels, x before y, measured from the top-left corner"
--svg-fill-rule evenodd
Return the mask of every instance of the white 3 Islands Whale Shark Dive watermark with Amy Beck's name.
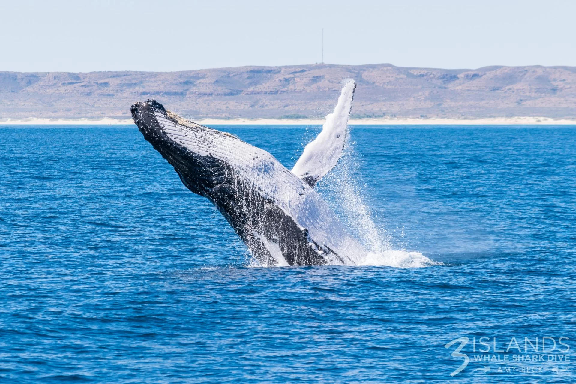
<path id="1" fill-rule="evenodd" d="M 456 376 L 473 364 L 472 372 L 537 374 L 563 372 L 569 368 L 569 337 L 537 336 L 498 339 L 497 336 L 458 337 L 444 347 L 450 356 L 460 360 L 450 376 Z"/>

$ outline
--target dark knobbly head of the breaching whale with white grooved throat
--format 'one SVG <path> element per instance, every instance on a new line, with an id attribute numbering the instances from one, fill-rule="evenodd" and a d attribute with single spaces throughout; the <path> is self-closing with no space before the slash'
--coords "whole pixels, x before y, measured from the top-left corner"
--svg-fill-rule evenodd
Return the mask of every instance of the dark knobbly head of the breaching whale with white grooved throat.
<path id="1" fill-rule="evenodd" d="M 234 149 L 234 135 L 192 123 L 167 111 L 156 100 L 136 102 L 132 118 L 144 138 L 164 157 L 192 192 L 210 198 L 210 191 L 228 168 L 223 150 Z"/>

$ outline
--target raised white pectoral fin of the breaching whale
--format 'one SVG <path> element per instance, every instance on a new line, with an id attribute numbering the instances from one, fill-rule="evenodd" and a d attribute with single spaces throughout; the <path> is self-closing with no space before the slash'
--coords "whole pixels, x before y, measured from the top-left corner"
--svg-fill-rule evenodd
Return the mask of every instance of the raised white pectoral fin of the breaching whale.
<path id="1" fill-rule="evenodd" d="M 326 116 L 322 131 L 316 139 L 306 145 L 292 169 L 292 173 L 310 187 L 314 187 L 317 181 L 330 172 L 342 155 L 354 89 L 356 89 L 354 80 L 348 80 L 344 84 L 334 112 Z"/>

